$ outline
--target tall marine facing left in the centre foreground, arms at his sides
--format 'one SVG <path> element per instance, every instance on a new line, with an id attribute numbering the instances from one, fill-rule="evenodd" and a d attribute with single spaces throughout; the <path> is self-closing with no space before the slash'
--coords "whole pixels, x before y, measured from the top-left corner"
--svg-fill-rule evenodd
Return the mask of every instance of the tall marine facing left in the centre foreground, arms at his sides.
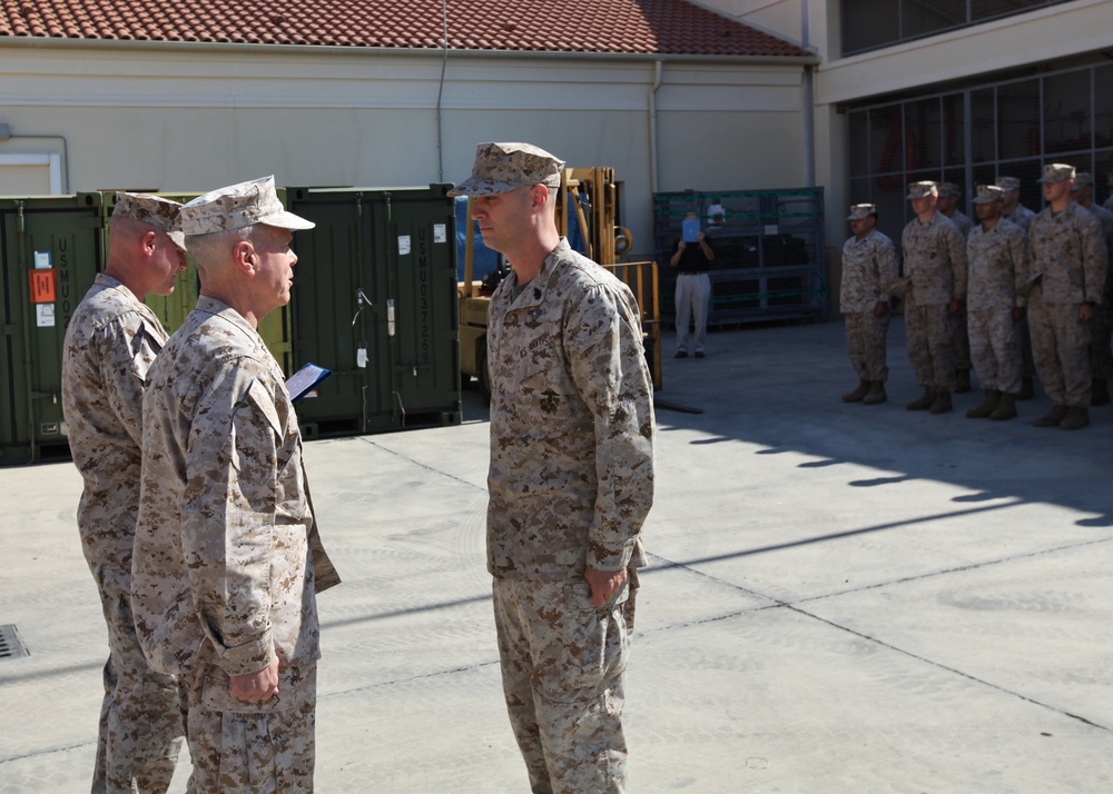
<path id="1" fill-rule="evenodd" d="M 487 569 L 503 691 L 533 792 L 622 792 L 624 678 L 652 386 L 630 290 L 554 222 L 563 163 L 485 143 L 472 217 L 513 266 L 491 298 Z"/>

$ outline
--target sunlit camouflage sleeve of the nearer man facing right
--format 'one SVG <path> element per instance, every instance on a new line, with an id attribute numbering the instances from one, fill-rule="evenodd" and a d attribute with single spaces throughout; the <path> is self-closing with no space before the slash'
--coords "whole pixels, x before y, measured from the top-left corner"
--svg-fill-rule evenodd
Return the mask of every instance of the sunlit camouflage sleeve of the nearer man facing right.
<path id="1" fill-rule="evenodd" d="M 221 369 L 200 396 L 186 453 L 181 545 L 203 628 L 230 675 L 275 659 L 272 545 L 280 426 L 266 376 Z"/>

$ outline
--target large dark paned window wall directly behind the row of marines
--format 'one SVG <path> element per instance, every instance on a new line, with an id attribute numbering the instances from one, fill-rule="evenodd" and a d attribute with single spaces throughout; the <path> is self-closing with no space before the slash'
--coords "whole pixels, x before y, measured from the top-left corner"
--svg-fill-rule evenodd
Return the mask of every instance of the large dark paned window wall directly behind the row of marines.
<path id="1" fill-rule="evenodd" d="M 975 186 L 1011 176 L 1021 180 L 1021 202 L 1038 211 L 1045 162 L 1093 173 L 1094 199 L 1104 201 L 1113 171 L 1109 88 L 1113 66 L 1101 64 L 851 108 L 850 136 L 866 140 L 848 141 L 850 204 L 876 205 L 878 228 L 898 239 L 912 220 L 909 182 L 955 182 L 973 218 Z"/>

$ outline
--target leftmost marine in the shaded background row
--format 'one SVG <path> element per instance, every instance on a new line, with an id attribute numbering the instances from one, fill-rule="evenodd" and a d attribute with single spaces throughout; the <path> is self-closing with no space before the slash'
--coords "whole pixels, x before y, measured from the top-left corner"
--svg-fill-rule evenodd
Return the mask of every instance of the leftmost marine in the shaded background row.
<path id="1" fill-rule="evenodd" d="M 889 330 L 889 288 L 897 280 L 897 250 L 893 240 L 875 229 L 877 208 L 850 207 L 854 236 L 843 244 L 843 284 L 839 310 L 846 318 L 846 347 L 858 388 L 843 395 L 844 403 L 878 405 L 886 399 L 889 377 L 885 340 Z"/>

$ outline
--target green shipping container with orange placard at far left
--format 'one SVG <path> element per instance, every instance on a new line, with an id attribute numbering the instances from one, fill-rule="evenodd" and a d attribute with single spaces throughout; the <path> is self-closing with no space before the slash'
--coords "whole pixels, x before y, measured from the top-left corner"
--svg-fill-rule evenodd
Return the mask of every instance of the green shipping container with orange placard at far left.
<path id="1" fill-rule="evenodd" d="M 104 269 L 101 195 L 0 198 L 0 464 L 66 457 L 66 326 Z"/>

